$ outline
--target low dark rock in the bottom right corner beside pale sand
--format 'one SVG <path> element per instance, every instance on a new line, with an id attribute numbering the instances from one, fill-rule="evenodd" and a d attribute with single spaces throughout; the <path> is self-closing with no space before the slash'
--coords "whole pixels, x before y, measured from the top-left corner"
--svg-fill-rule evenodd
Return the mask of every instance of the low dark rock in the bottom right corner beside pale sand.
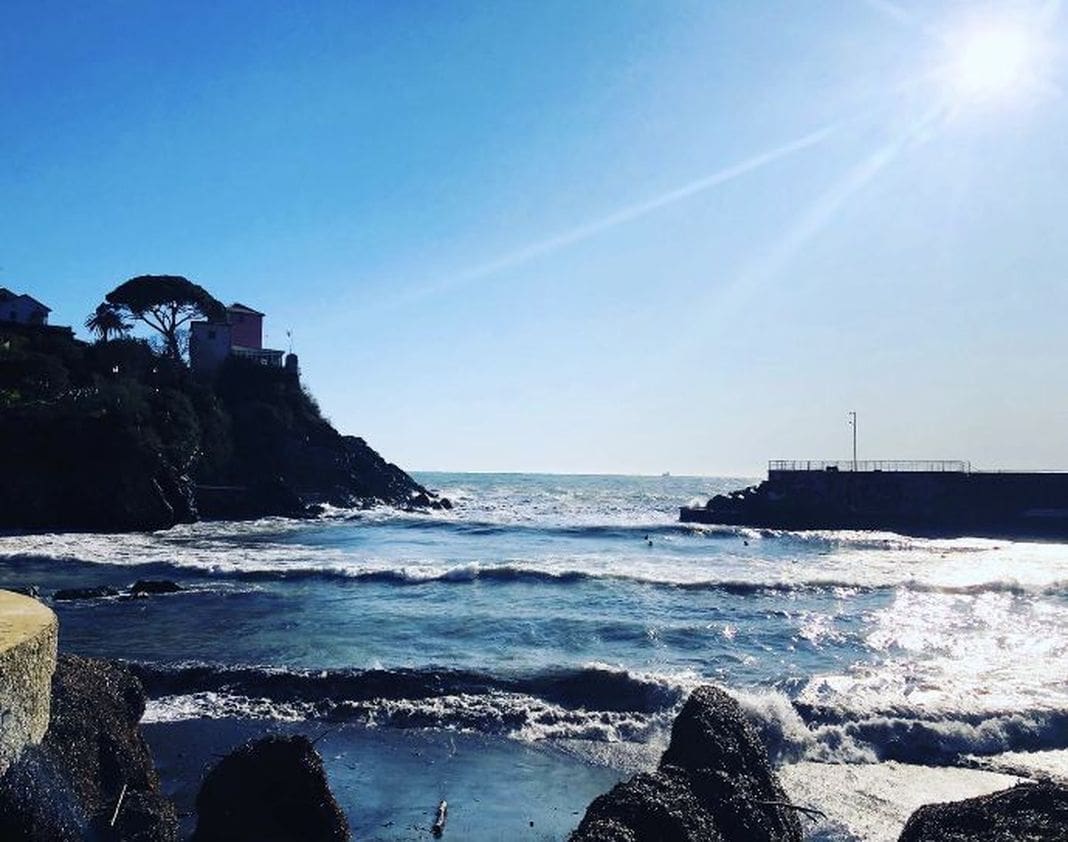
<path id="1" fill-rule="evenodd" d="M 1045 842 L 1068 839 L 1068 786 L 1021 783 L 916 810 L 898 842 Z"/>

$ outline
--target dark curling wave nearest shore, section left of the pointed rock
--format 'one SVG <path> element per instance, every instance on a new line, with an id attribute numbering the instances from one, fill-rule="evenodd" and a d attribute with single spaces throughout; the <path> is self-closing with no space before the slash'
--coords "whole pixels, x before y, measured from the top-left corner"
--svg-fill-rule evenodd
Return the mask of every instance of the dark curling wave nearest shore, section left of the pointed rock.
<path id="1" fill-rule="evenodd" d="M 592 665 L 501 677 L 443 669 L 294 671 L 132 664 L 144 721 L 229 717 L 358 721 L 534 742 L 645 743 L 670 726 L 685 679 Z"/>

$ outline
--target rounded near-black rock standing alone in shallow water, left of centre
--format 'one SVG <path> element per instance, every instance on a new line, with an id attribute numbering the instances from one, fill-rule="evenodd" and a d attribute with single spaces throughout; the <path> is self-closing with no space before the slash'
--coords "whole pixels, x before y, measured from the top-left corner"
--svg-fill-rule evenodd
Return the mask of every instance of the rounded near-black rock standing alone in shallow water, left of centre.
<path id="1" fill-rule="evenodd" d="M 193 842 L 342 842 L 348 822 L 323 759 L 302 736 L 269 736 L 231 752 L 197 796 Z"/>

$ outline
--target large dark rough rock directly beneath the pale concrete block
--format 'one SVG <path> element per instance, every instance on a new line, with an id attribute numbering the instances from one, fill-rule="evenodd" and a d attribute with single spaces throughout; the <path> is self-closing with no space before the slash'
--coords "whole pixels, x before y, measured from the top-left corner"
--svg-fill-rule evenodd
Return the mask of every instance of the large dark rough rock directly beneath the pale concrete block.
<path id="1" fill-rule="evenodd" d="M 41 745 L 23 751 L 0 779 L 0 839 L 176 840 L 177 815 L 160 793 L 138 728 L 140 682 L 117 665 L 60 655 L 51 705 Z"/>

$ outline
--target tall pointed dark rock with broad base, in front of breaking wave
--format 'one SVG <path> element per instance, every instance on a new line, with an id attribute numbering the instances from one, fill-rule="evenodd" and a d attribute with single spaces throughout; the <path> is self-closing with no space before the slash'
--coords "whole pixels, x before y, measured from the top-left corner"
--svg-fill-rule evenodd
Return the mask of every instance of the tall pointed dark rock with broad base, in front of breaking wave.
<path id="1" fill-rule="evenodd" d="M 595 799 L 571 842 L 800 842 L 801 826 L 739 704 L 691 693 L 660 768 Z"/>

